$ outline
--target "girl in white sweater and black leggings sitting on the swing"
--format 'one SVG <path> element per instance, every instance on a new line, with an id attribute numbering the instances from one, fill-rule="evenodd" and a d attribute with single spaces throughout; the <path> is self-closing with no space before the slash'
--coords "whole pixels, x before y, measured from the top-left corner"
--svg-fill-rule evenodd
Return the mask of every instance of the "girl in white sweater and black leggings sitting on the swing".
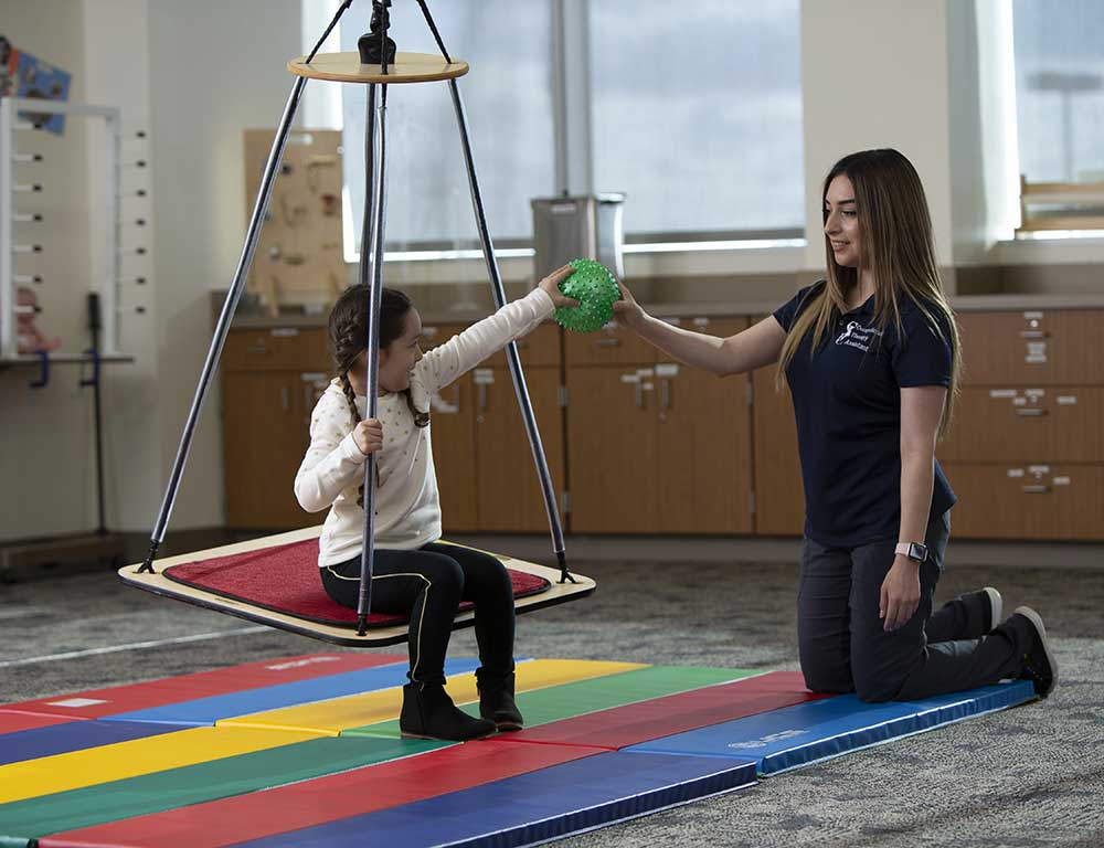
<path id="1" fill-rule="evenodd" d="M 368 406 L 371 294 L 347 289 L 330 314 L 338 377 L 310 416 L 310 446 L 295 478 L 308 512 L 329 509 L 318 540 L 327 594 L 357 608 L 363 548 L 364 462 L 375 455 L 375 558 L 372 611 L 408 615 L 410 683 L 403 688 L 404 735 L 464 741 L 519 730 L 513 702 L 513 589 L 502 563 L 443 545 L 440 505 L 429 442 L 429 398 L 508 342 L 535 329 L 559 306 L 577 306 L 558 287 L 565 265 L 520 300 L 423 354 L 422 319 L 404 294 L 383 290 L 378 418 Z M 445 650 L 461 601 L 475 604 L 479 714 L 457 709 L 445 691 Z"/>

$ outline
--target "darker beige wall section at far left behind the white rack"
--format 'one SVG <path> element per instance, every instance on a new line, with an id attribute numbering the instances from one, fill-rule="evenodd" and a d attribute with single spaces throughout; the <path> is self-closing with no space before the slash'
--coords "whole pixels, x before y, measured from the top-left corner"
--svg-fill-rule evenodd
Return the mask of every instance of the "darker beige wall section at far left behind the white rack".
<path id="1" fill-rule="evenodd" d="M 84 98 L 83 15 L 76 0 L 8 0 L 0 32 L 12 44 L 73 74 L 70 96 Z M 43 312 L 39 327 L 60 336 L 65 352 L 89 343 L 85 293 L 89 277 L 85 125 L 66 121 L 62 137 L 18 132 L 21 152 L 45 157 L 41 166 L 15 166 L 21 182 L 41 182 L 41 194 L 15 195 L 15 208 L 41 212 L 42 224 L 17 224 L 17 242 L 44 252 L 17 259 L 17 272 L 39 273 L 34 287 Z M 56 367 L 45 389 L 32 390 L 30 368 L 0 369 L 0 540 L 78 532 L 95 524 L 92 396 L 78 388 L 75 367 Z"/>

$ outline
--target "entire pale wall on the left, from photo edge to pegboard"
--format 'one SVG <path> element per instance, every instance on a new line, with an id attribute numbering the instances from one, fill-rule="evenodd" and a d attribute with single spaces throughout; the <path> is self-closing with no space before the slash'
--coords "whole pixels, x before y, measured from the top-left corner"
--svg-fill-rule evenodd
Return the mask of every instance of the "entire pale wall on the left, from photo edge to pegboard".
<path id="1" fill-rule="evenodd" d="M 242 132 L 278 121 L 301 52 L 297 0 L 4 0 L 0 30 L 24 50 L 73 74 L 71 99 L 118 106 L 129 140 L 125 152 L 151 162 L 141 179 L 150 200 L 125 206 L 141 215 L 131 247 L 148 258 L 125 259 L 123 349 L 132 365 L 105 373 L 107 521 L 148 531 L 157 516 L 181 428 L 211 339 L 210 292 L 226 288 L 245 230 Z M 262 36 L 263 35 L 263 36 Z M 308 95 L 309 96 L 309 95 Z M 132 130 L 149 130 L 148 149 Z M 89 246 L 88 221 L 103 208 L 95 172 L 103 139 L 85 138 L 70 121 L 64 139 L 35 134 L 49 156 L 47 214 L 41 259 L 47 283 L 40 321 L 87 347 L 84 293 L 103 259 Z M 91 195 L 91 197 L 89 197 Z M 91 393 L 73 367 L 56 367 L 49 389 L 32 392 L 26 369 L 0 371 L 0 540 L 89 529 L 95 522 Z M 220 398 L 215 384 L 197 432 L 171 527 L 222 522 Z M 264 422 L 257 422 L 258 427 Z M 14 483 L 18 481 L 18 486 Z"/>

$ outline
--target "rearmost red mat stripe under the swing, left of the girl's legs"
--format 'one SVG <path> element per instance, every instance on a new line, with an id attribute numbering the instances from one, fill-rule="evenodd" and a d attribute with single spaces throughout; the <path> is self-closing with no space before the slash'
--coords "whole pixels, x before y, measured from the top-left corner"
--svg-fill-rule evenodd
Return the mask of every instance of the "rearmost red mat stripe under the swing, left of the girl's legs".
<path id="1" fill-rule="evenodd" d="M 397 654 L 306 654 L 297 657 L 267 659 L 212 671 L 198 671 L 182 677 L 149 680 L 144 683 L 88 689 L 71 695 L 55 695 L 33 701 L 3 704 L 4 712 L 19 711 L 38 716 L 56 716 L 65 719 L 100 719 L 120 712 L 132 712 L 169 703 L 182 703 L 215 695 L 262 689 L 267 686 L 314 680 L 346 671 L 373 668 L 405 660 Z M 59 707 L 53 701 L 85 698 L 104 701 L 86 707 Z"/>

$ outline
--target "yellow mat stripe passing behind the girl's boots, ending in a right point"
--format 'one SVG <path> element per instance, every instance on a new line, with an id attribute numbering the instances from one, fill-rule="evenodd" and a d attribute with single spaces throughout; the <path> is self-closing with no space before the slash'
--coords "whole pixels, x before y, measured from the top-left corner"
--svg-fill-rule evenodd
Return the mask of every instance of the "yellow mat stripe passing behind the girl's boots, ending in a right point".
<path id="1" fill-rule="evenodd" d="M 606 677 L 622 671 L 646 668 L 640 662 L 598 662 L 578 659 L 534 659 L 519 662 L 516 670 L 516 691 L 543 689 L 577 680 Z M 470 703 L 479 699 L 476 676 L 473 672 L 455 675 L 446 686 L 454 703 Z M 233 719 L 221 719 L 219 727 L 279 728 L 288 731 L 314 731 L 316 734 L 337 736 L 342 730 L 397 719 L 402 709 L 401 687 L 382 689 L 364 695 L 335 698 L 301 707 L 255 712 Z"/>

